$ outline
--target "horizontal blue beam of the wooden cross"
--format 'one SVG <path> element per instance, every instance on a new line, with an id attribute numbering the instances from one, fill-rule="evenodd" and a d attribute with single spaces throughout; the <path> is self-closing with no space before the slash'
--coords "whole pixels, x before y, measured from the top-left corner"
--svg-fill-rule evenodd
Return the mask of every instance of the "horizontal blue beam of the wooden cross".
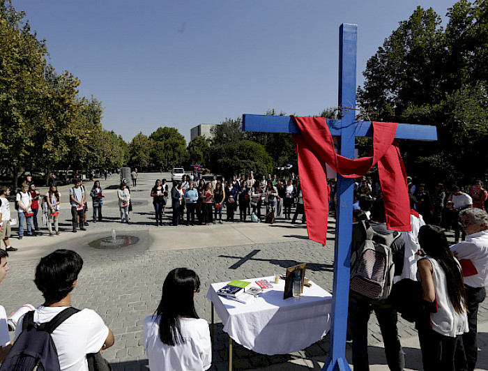
<path id="1" fill-rule="evenodd" d="M 341 135 L 342 120 L 327 119 L 327 124 L 330 134 L 336 137 Z M 356 125 L 356 137 L 373 136 L 371 121 L 356 121 L 353 125 Z M 290 116 L 270 116 L 261 114 L 244 114 L 243 131 L 289 132 L 292 134 L 300 134 L 300 129 Z M 399 123 L 395 138 L 432 141 L 437 140 L 437 130 L 435 126 Z"/>

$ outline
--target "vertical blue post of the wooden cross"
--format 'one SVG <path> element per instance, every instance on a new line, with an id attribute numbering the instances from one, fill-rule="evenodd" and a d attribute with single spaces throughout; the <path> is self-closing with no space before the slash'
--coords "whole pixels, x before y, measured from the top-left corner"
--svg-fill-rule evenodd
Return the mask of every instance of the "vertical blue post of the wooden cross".
<path id="1" fill-rule="evenodd" d="M 339 154 L 353 158 L 356 125 L 356 49 L 358 26 L 342 24 L 339 32 L 339 107 L 342 109 L 342 130 Z M 352 109 L 344 109 L 349 107 Z M 334 285 L 330 351 L 323 370 L 350 370 L 346 361 L 346 330 L 349 305 L 349 261 L 353 215 L 353 179 L 337 174 L 337 218 L 335 225 Z"/>

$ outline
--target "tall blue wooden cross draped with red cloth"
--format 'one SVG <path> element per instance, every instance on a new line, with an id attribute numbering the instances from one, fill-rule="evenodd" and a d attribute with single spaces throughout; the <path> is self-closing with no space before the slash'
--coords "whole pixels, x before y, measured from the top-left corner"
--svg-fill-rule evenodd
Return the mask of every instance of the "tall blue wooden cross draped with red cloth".
<path id="1" fill-rule="evenodd" d="M 356 49 L 358 26 L 342 24 L 339 35 L 339 107 L 341 120 L 327 120 L 332 135 L 340 137 L 339 154 L 354 157 L 356 137 L 372 137 L 370 121 L 356 121 Z M 290 116 L 243 115 L 243 130 L 291 132 L 300 130 Z M 436 140 L 435 126 L 399 123 L 395 138 Z M 337 175 L 337 224 L 335 226 L 335 259 L 333 314 L 330 326 L 330 351 L 323 370 L 351 370 L 346 361 L 347 308 L 349 303 L 349 263 L 353 223 L 353 179 Z M 327 220 L 324 221 L 327 224 Z"/>

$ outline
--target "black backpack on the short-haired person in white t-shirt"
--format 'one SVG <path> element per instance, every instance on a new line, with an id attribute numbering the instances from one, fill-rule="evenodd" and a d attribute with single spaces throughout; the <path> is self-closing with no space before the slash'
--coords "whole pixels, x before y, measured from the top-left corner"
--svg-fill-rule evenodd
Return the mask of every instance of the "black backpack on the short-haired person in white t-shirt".
<path id="1" fill-rule="evenodd" d="M 40 325 L 34 323 L 34 311 L 27 312 L 22 321 L 22 333 L 1 363 L 0 371 L 59 371 L 58 352 L 51 334 L 77 312 L 76 308 L 66 308 Z"/>

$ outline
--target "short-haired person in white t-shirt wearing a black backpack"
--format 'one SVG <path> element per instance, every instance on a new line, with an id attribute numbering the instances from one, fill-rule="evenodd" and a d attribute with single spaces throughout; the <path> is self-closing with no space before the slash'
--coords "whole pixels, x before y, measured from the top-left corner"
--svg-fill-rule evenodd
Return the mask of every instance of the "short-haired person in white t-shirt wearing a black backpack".
<path id="1" fill-rule="evenodd" d="M 1 371 L 29 370 L 24 364 L 32 361 L 31 352 L 40 357 L 43 370 L 89 371 L 87 354 L 112 347 L 114 335 L 94 310 L 71 307 L 82 266 L 82 257 L 73 250 L 56 250 L 40 259 L 34 283 L 45 302 L 18 321 L 14 345 Z M 22 368 L 15 368 L 20 362 Z"/>

